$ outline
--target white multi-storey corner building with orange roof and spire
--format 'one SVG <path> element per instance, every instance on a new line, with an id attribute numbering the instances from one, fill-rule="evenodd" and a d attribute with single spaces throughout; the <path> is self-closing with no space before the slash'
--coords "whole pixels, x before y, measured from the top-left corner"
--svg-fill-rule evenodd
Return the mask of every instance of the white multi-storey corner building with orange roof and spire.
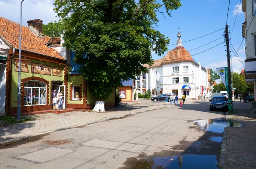
<path id="1" fill-rule="evenodd" d="M 195 62 L 188 51 L 183 47 L 180 32 L 177 35 L 176 48 L 169 51 L 166 57 L 154 61 L 154 65 L 148 68 L 148 73 L 141 74 L 137 80 L 139 90 L 145 93 L 151 90 L 157 95 L 156 82 L 161 82 L 161 93 L 173 93 L 179 98 L 184 94 L 186 98 L 198 99 L 200 94 L 207 96 L 208 77 L 207 69 Z M 145 79 L 143 79 L 145 77 Z M 143 85 L 139 85 L 143 84 Z"/>

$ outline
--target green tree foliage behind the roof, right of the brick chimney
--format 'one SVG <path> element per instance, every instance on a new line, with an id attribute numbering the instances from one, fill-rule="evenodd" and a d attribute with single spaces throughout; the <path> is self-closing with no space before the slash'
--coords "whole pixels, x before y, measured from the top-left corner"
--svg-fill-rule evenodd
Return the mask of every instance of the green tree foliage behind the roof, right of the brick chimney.
<path id="1" fill-rule="evenodd" d="M 49 37 L 61 37 L 61 34 L 64 31 L 64 26 L 61 20 L 58 22 L 55 20 L 54 22 L 50 22 L 47 25 L 43 24 L 43 34 Z"/>

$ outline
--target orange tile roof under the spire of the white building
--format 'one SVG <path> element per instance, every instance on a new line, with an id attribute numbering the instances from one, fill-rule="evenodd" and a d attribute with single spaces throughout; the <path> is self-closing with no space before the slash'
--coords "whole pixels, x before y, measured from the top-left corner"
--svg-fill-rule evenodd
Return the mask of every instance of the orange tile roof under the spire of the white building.
<path id="1" fill-rule="evenodd" d="M 180 46 L 167 53 L 163 64 L 171 62 L 194 62 L 194 60 L 189 52 L 183 46 Z"/>

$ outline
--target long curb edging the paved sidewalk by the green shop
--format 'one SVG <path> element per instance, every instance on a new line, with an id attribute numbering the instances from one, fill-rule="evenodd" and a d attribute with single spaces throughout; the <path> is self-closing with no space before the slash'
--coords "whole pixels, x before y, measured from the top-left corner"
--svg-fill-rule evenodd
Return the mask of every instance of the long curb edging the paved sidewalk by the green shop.
<path id="1" fill-rule="evenodd" d="M 157 109 L 162 109 L 162 108 L 165 108 L 165 107 L 155 108 L 155 109 L 152 109 L 152 110 L 157 110 Z M 45 134 L 49 134 L 49 133 L 57 132 L 57 131 L 61 131 L 61 130 L 73 129 L 73 128 L 76 128 L 76 127 L 83 127 L 83 126 L 87 126 L 87 125 L 90 125 L 90 124 L 95 124 L 95 123 L 99 123 L 99 122 L 103 122 L 103 121 L 114 120 L 114 119 L 117 119 L 117 118 L 122 118 L 122 117 L 130 116 L 130 115 L 135 115 L 135 114 L 138 114 L 138 113 L 144 113 L 144 112 L 148 112 L 148 111 L 152 111 L 152 110 L 146 110 L 146 111 L 141 111 L 141 112 L 137 112 L 137 113 L 129 113 L 129 114 L 120 115 L 120 116 L 117 116 L 117 117 L 111 117 L 111 118 L 107 118 L 107 119 L 104 119 L 104 120 L 94 121 L 94 122 L 87 123 L 87 124 L 80 124 L 80 125 L 72 126 L 72 127 L 63 127 L 63 128 L 56 129 L 56 130 L 42 132 L 40 134 L 26 135 L 26 136 L 22 136 L 22 137 L 18 137 L 18 138 L 12 138 L 12 139 L 9 139 L 9 140 L 0 141 L 0 145 L 15 142 L 15 141 L 20 141 L 20 140 L 35 137 L 35 136 L 38 136 L 38 135 L 45 135 Z"/>

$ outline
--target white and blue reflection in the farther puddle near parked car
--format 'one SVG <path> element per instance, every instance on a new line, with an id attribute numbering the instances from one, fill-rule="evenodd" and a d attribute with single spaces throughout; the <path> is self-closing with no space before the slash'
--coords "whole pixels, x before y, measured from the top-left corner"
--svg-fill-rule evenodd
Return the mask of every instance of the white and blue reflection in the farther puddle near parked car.
<path id="1" fill-rule="evenodd" d="M 241 127 L 242 124 L 239 122 L 226 120 L 224 118 L 216 118 L 216 119 L 204 119 L 204 120 L 195 120 L 196 125 L 201 127 L 202 130 L 208 132 L 224 132 L 225 127 Z"/>

